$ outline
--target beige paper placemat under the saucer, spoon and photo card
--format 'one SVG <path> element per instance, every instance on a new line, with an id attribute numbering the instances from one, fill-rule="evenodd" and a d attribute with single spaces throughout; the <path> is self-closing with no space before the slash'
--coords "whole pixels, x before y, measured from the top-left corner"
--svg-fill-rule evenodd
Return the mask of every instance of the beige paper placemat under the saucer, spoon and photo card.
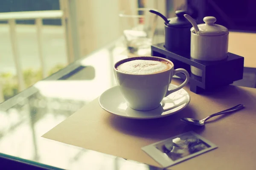
<path id="1" fill-rule="evenodd" d="M 174 81 L 174 84 L 179 84 Z M 256 89 L 227 86 L 207 94 L 191 95 L 189 106 L 161 119 L 133 120 L 114 116 L 98 104 L 98 98 L 43 135 L 102 153 L 158 166 L 141 147 L 190 130 L 218 145 L 201 156 L 171 167 L 180 169 L 256 169 Z M 203 119 L 238 104 L 246 108 L 219 116 L 205 127 L 180 122 L 182 117 Z M 213 118 L 214 119 L 214 118 Z"/>

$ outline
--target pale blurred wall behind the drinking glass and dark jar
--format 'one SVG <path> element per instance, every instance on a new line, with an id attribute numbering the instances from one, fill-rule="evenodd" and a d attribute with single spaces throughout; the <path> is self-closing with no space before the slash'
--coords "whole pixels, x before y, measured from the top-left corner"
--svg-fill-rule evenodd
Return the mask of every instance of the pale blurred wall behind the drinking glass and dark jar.
<path id="1" fill-rule="evenodd" d="M 118 16 L 119 11 L 135 6 L 136 1 L 70 0 L 70 3 L 73 3 L 70 13 L 73 14 L 74 44 L 79 48 L 79 56 L 83 57 L 120 37 L 122 27 Z M 146 7 L 156 8 L 166 14 L 166 0 L 145 0 L 145 2 Z M 163 28 L 163 20 L 158 18 L 157 29 Z"/>

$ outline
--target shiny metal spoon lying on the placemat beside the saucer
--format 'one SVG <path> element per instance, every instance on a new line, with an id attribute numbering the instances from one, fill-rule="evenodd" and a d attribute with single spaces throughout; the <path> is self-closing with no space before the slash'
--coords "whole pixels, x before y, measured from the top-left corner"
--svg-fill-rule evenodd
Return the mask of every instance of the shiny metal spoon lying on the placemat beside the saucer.
<path id="1" fill-rule="evenodd" d="M 227 109 L 225 111 L 214 113 L 214 114 L 212 114 L 212 115 L 210 115 L 207 118 L 204 118 L 202 120 L 196 120 L 196 119 L 191 119 L 191 118 L 181 118 L 180 120 L 185 122 L 185 123 L 191 124 L 191 125 L 204 126 L 204 122 L 207 121 L 208 119 L 214 117 L 214 116 L 218 116 L 218 115 L 221 115 L 221 114 L 226 114 L 226 113 L 232 113 L 232 112 L 235 112 L 235 111 L 239 111 L 239 110 L 241 110 L 244 107 L 245 106 L 241 105 L 241 104 L 240 105 L 236 105 L 235 107 L 229 108 L 229 109 Z"/>

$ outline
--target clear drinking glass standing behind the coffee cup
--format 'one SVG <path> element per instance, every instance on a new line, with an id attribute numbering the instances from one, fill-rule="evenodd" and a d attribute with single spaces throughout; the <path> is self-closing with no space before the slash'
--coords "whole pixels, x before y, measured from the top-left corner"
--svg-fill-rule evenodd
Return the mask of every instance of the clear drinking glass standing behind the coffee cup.
<path id="1" fill-rule="evenodd" d="M 157 15 L 150 13 L 150 9 L 152 8 L 136 8 L 135 10 L 121 11 L 119 14 L 126 45 L 131 54 L 151 54 Z"/>

